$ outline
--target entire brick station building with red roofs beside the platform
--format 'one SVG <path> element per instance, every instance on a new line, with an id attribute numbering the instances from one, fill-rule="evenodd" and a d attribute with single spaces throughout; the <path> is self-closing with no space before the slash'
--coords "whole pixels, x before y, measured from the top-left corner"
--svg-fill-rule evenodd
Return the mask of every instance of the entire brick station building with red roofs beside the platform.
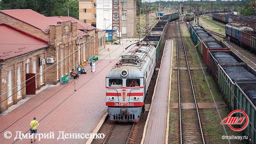
<path id="1" fill-rule="evenodd" d="M 105 50 L 102 30 L 31 9 L 0 11 L 0 32 L 0 113 Z"/>

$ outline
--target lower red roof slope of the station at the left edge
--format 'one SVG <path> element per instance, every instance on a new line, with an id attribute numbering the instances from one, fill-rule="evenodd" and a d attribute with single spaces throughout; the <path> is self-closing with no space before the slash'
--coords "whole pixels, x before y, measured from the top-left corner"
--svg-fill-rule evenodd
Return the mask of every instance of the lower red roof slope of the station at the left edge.
<path id="1" fill-rule="evenodd" d="M 0 32 L 0 61 L 49 47 L 46 43 L 20 34 L 5 26 L 0 26 Z"/>

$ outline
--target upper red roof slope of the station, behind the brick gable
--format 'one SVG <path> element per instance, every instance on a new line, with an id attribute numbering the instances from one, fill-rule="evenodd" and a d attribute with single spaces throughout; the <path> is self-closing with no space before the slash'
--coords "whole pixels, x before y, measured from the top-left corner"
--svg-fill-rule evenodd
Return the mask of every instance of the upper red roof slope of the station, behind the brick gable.
<path id="1" fill-rule="evenodd" d="M 49 17 L 41 15 L 40 13 L 37 13 L 32 9 L 10 9 L 2 10 L 0 12 L 5 13 L 6 15 L 9 15 L 11 17 L 14 17 L 15 19 L 18 19 L 27 24 L 30 24 L 31 26 L 34 26 L 44 31 L 46 34 L 48 34 L 49 32 L 50 25 L 57 24 L 54 20 L 49 19 Z"/>

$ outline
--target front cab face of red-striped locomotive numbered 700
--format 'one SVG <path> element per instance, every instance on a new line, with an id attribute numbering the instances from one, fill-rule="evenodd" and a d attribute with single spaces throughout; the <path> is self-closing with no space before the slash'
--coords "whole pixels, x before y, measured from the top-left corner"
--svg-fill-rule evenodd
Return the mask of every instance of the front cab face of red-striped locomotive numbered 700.
<path id="1" fill-rule="evenodd" d="M 111 122 L 138 122 L 144 105 L 143 78 L 106 78 Z"/>

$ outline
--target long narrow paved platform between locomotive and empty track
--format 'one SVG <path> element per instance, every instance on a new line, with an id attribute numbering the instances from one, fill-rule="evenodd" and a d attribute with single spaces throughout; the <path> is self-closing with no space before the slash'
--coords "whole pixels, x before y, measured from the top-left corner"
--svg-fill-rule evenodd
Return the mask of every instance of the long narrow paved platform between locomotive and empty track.
<path id="1" fill-rule="evenodd" d="M 141 144 L 165 144 L 168 141 L 172 48 L 173 41 L 167 40 Z"/>

